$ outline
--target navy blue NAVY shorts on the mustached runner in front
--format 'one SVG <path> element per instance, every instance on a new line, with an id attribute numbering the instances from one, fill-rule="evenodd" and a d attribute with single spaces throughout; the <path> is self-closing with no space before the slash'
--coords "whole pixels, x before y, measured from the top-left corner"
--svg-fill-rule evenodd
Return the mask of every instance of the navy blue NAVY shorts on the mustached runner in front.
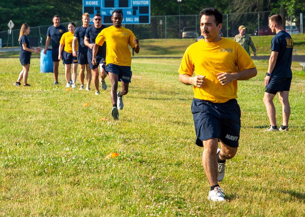
<path id="1" fill-rule="evenodd" d="M 196 145 L 202 147 L 207 139 L 218 138 L 230 147 L 238 147 L 240 107 L 236 99 L 214 103 L 193 99 L 192 113 L 196 130 Z"/>

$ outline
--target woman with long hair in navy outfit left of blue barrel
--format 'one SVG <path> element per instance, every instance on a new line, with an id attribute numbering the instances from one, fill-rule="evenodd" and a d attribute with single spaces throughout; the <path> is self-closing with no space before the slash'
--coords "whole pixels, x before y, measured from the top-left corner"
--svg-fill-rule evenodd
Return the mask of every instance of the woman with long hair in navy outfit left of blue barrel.
<path id="1" fill-rule="evenodd" d="M 19 34 L 19 44 L 20 44 L 20 54 L 19 54 L 19 60 L 22 65 L 22 71 L 19 74 L 19 78 L 14 83 L 15 86 L 20 86 L 20 81 L 23 78 L 23 86 L 24 87 L 30 87 L 31 85 L 27 83 L 27 75 L 29 73 L 30 69 L 30 59 L 31 59 L 31 52 L 34 52 L 36 54 L 39 54 L 41 49 L 40 47 L 30 47 L 30 41 L 27 38 L 27 35 L 30 34 L 30 26 L 28 26 L 26 23 L 23 23 L 20 29 Z"/>

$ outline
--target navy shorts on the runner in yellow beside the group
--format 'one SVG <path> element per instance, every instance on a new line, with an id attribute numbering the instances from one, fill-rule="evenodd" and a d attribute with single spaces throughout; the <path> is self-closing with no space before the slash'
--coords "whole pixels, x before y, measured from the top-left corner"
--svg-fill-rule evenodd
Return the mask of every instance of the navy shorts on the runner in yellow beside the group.
<path id="1" fill-rule="evenodd" d="M 119 77 L 119 81 L 123 81 L 124 83 L 131 82 L 130 80 L 131 80 L 132 72 L 130 66 L 119 66 L 110 63 L 107 64 L 106 66 L 103 66 L 103 68 L 105 69 L 107 74 L 109 74 L 109 72 L 113 74 L 117 74 L 117 76 Z"/>

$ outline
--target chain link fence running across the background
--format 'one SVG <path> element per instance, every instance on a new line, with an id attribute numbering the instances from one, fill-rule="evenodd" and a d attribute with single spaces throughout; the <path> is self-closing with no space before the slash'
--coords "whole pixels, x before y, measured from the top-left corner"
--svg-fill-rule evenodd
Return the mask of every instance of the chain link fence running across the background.
<path id="1" fill-rule="evenodd" d="M 303 33 L 303 19 L 305 12 L 298 10 L 296 17 L 290 17 L 286 20 L 286 25 L 296 26 L 299 33 Z M 248 13 L 234 13 L 234 14 L 223 14 L 222 23 L 222 35 L 224 37 L 234 37 L 239 33 L 238 27 L 244 25 L 247 27 L 246 33 L 252 36 L 270 34 L 268 28 L 268 17 L 271 11 L 264 12 L 248 12 Z M 81 21 L 74 22 L 76 26 L 81 26 Z M 193 27 L 193 34 L 190 37 L 196 38 L 200 35 L 199 29 L 200 17 L 199 15 L 181 15 L 180 22 L 179 16 L 151 16 L 150 24 L 136 24 L 136 25 L 123 25 L 127 29 L 131 29 L 135 36 L 139 40 L 142 39 L 179 39 L 186 37 L 183 35 L 184 27 Z M 61 23 L 61 25 L 67 28 L 68 23 Z M 106 26 L 112 25 L 112 23 L 106 23 Z M 30 26 L 30 46 L 45 46 L 46 33 L 49 26 Z M 291 27 L 292 28 L 292 27 Z M 180 31 L 179 31 L 180 29 Z M 290 31 L 290 29 L 289 29 Z M 19 49 L 19 32 L 20 29 L 14 29 L 12 31 L 0 32 L 0 52 L 12 51 L 18 52 Z M 292 29 L 292 33 L 296 33 Z M 272 34 L 272 33 L 271 33 Z"/>

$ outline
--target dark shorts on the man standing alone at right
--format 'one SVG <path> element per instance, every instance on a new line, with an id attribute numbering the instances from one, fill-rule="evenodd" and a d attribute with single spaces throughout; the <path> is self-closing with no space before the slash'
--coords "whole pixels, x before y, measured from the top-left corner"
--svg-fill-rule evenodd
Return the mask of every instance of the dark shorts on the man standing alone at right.
<path id="1" fill-rule="evenodd" d="M 266 93 L 276 94 L 278 91 L 289 91 L 292 78 L 271 77 L 265 87 Z"/>

